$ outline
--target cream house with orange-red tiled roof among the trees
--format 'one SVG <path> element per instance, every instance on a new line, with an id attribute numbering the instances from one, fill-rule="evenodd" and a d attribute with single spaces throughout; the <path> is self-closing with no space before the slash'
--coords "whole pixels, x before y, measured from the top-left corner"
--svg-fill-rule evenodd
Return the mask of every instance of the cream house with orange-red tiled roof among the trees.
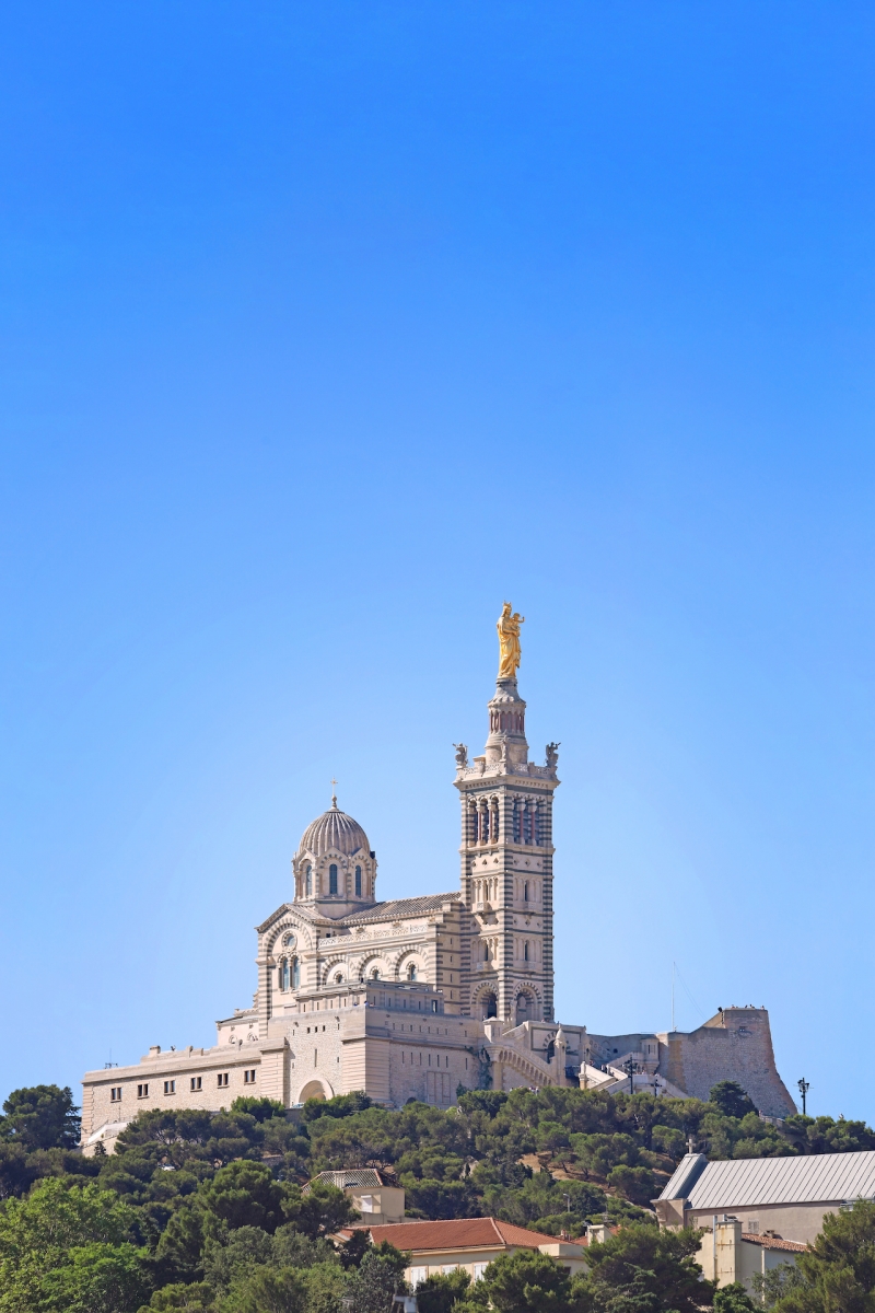
<path id="1" fill-rule="evenodd" d="M 518 1249 L 548 1254 L 572 1276 L 586 1267 L 582 1243 L 512 1226 L 496 1217 L 400 1222 L 395 1226 L 369 1226 L 367 1230 L 374 1245 L 387 1239 L 396 1249 L 409 1250 L 412 1258 L 405 1275 L 412 1285 L 438 1272 L 453 1272 L 457 1267 L 464 1267 L 471 1280 L 476 1281 L 500 1254 L 513 1254 Z"/>

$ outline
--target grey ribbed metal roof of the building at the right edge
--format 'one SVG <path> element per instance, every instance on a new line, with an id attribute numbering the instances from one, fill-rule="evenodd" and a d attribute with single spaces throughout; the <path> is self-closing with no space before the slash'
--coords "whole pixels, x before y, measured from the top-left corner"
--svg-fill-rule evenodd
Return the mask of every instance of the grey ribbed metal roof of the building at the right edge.
<path id="1" fill-rule="evenodd" d="M 701 1154 L 686 1154 L 660 1199 L 689 1200 L 690 1208 L 715 1209 L 761 1204 L 832 1204 L 875 1199 L 875 1149 L 790 1158 L 732 1158 L 710 1162 L 697 1180 L 690 1169 Z M 681 1194 L 680 1186 L 689 1194 Z"/>

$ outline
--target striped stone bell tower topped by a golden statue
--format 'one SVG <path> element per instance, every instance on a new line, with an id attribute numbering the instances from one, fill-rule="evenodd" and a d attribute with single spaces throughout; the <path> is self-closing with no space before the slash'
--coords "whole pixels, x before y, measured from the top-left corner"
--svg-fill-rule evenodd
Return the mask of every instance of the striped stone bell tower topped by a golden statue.
<path id="1" fill-rule="evenodd" d="M 463 1010 L 519 1024 L 552 1022 L 552 800 L 558 744 L 529 760 L 526 704 L 517 688 L 521 616 L 505 603 L 501 660 L 483 756 L 457 746 L 462 802 L 462 899 L 471 913 Z"/>

